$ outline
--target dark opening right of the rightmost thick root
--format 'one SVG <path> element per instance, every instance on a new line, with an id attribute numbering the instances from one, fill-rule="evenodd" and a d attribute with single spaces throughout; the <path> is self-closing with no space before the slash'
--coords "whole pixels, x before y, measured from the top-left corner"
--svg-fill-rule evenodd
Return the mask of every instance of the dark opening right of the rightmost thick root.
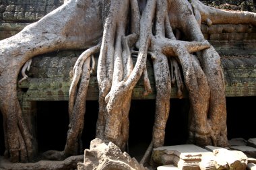
<path id="1" fill-rule="evenodd" d="M 226 97 L 228 139 L 255 138 L 256 96 Z"/>

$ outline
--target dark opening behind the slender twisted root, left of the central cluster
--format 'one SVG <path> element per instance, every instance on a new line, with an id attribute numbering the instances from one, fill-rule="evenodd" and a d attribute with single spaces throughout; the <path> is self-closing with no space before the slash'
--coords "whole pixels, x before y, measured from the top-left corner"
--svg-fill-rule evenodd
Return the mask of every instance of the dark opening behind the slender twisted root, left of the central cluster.
<path id="1" fill-rule="evenodd" d="M 38 151 L 63 151 L 69 124 L 68 101 L 39 101 L 37 110 Z M 89 148 L 90 141 L 95 138 L 97 118 L 98 101 L 86 101 L 84 148 Z"/>

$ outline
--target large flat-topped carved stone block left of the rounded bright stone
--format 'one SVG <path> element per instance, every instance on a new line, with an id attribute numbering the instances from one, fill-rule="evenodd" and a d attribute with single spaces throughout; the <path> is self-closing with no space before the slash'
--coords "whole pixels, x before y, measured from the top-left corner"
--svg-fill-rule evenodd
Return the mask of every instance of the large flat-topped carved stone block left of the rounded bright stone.
<path id="1" fill-rule="evenodd" d="M 216 169 L 212 152 L 193 144 L 154 148 L 152 160 L 158 165 L 175 165 L 179 169 Z"/>

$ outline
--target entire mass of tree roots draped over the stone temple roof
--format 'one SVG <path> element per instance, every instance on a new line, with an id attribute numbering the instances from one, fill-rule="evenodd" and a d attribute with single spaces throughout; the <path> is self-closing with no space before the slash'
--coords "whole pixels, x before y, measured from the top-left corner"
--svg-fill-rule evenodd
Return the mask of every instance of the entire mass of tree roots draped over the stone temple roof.
<path id="1" fill-rule="evenodd" d="M 36 155 L 36 140 L 26 127 L 17 98 L 20 69 L 24 65 L 22 75 L 26 79 L 24 71 L 29 67 L 30 58 L 61 49 L 88 48 L 73 69 L 64 151 L 45 153 L 49 159 L 64 159 L 82 150 L 80 137 L 90 60 L 93 61 L 92 55 L 98 52 L 100 108 L 96 137 L 125 150 L 131 94 L 142 75 L 145 95 L 151 91 L 146 70 L 150 54 L 156 81 L 156 117 L 150 148 L 164 144 L 170 89 L 175 82 L 179 97 L 182 97 L 183 82 L 189 91 L 189 142 L 226 146 L 226 101 L 220 56 L 203 38 L 199 26 L 202 22 L 255 25 L 256 15 L 220 11 L 198 0 L 190 3 L 181 0 L 71 0 L 19 34 L 1 41 L 0 94 L 5 99 L 1 97 L 0 108 L 4 119 L 5 156 L 13 162 L 26 162 Z M 134 66 L 132 54 L 137 56 Z"/>

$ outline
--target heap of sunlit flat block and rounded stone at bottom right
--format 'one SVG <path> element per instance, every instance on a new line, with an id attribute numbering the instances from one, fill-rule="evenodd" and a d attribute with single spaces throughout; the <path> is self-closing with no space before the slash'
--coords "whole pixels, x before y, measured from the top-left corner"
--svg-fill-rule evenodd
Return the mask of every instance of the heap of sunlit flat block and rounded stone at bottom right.
<path id="1" fill-rule="evenodd" d="M 174 167 L 182 170 L 245 170 L 247 167 L 247 156 L 241 151 L 229 151 L 215 146 L 205 148 L 193 144 L 162 146 L 154 148 L 152 161 L 159 166 L 158 170 Z"/>

